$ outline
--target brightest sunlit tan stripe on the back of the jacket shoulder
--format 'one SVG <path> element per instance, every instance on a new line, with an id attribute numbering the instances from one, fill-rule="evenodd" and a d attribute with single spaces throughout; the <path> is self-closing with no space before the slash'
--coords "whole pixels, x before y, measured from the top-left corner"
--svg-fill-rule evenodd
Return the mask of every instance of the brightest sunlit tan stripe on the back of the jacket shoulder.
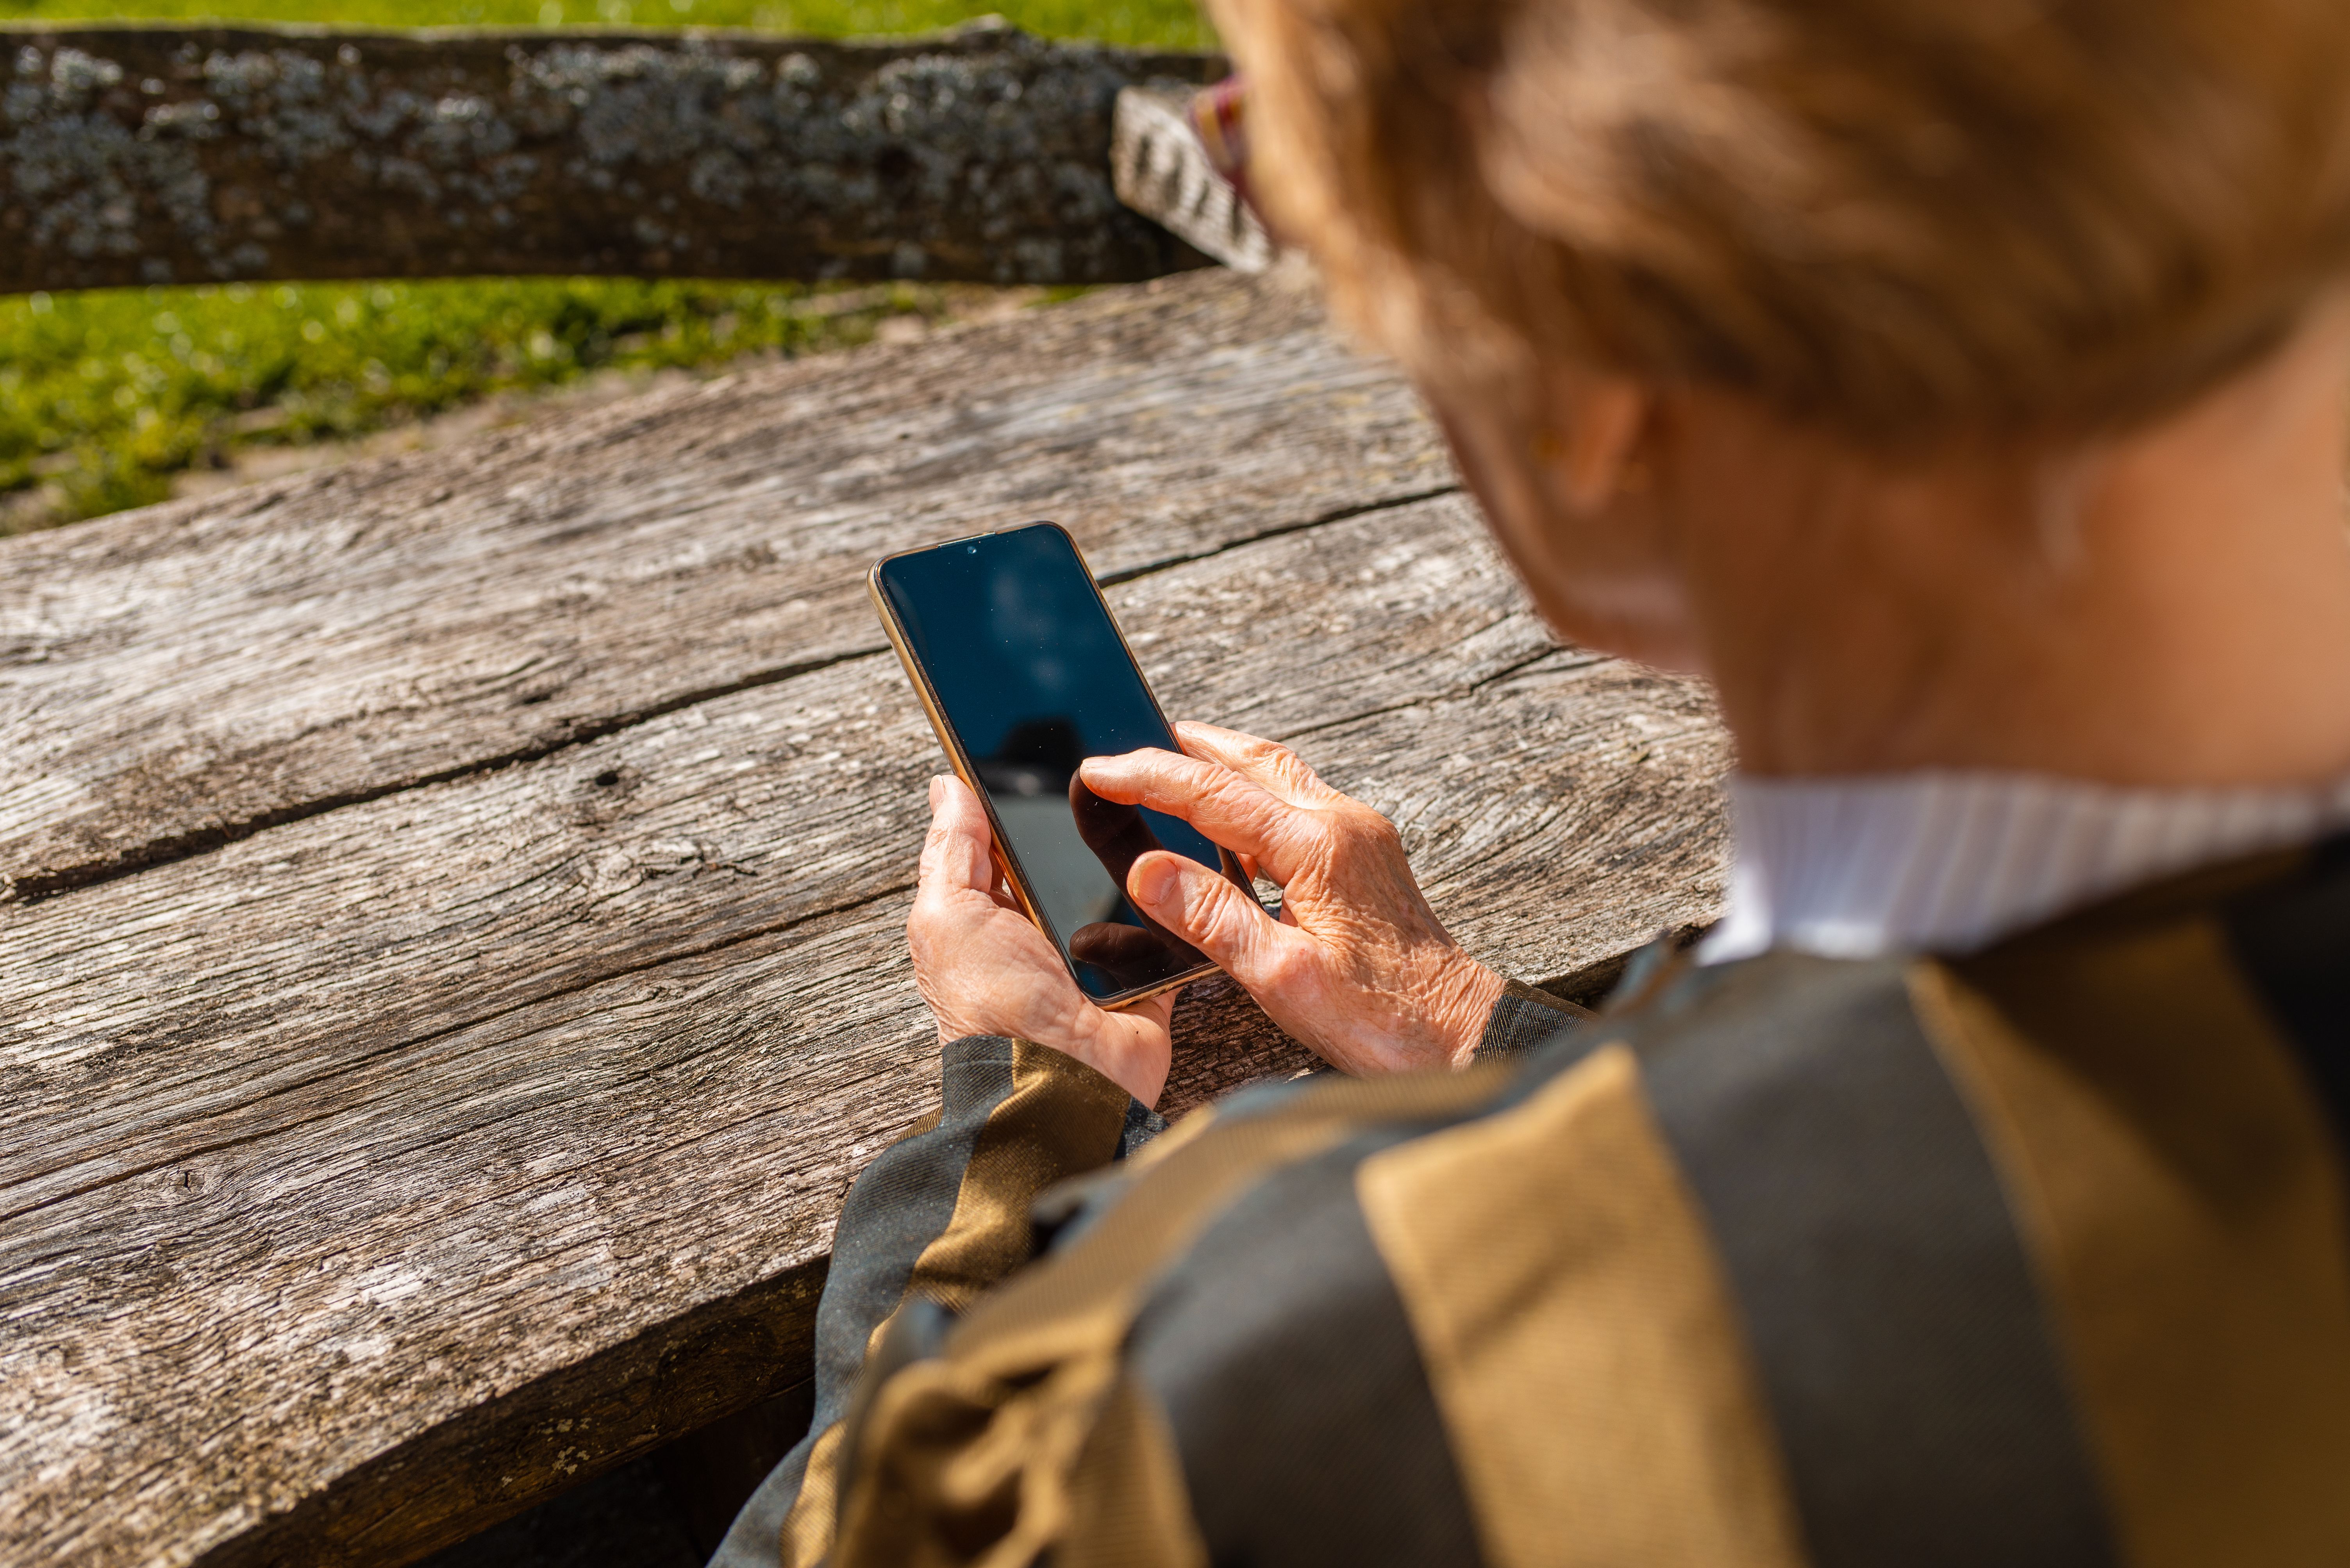
<path id="1" fill-rule="evenodd" d="M 1720 1263 L 1629 1049 L 1372 1155 L 1356 1190 L 1497 1568 L 1805 1561 Z"/>

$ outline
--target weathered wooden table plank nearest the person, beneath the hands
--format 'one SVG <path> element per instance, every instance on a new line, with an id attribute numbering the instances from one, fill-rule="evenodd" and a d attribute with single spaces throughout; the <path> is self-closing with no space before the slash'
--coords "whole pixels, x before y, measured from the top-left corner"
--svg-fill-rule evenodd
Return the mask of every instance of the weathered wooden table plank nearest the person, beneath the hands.
<path id="1" fill-rule="evenodd" d="M 1509 969 L 1711 913 L 1704 695 L 1549 648 L 1457 498 L 1116 606 Z M 862 655 L 0 911 L 0 1556 L 400 1561 L 801 1376 L 839 1195 L 935 1094 L 935 768 Z M 1177 1103 L 1302 1063 L 1206 991 Z"/>

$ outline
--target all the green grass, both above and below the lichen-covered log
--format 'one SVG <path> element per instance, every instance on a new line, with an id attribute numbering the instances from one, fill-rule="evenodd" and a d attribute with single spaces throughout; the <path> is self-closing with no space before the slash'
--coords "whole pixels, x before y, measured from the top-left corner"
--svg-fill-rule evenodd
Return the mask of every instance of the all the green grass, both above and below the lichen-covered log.
<path id="1" fill-rule="evenodd" d="M 724 26 L 916 33 L 982 14 L 1034 33 L 1201 49 L 1194 0 L 0 0 L 9 21 Z M 242 446 L 345 439 L 597 369 L 714 369 L 860 343 L 935 289 L 484 279 L 99 289 L 0 298 L 0 533 L 162 500 Z M 33 498 L 33 500 L 28 500 Z M 14 502 L 14 505 L 12 505 Z"/>

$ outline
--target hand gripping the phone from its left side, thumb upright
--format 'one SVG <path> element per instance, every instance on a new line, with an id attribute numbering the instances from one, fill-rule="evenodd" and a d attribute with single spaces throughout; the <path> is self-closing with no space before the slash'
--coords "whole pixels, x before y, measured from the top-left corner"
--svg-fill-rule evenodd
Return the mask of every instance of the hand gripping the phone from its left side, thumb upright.
<path id="1" fill-rule="evenodd" d="M 1173 995 L 1123 1012 L 1095 1007 L 1053 941 L 1029 925 L 989 854 L 987 810 L 954 777 L 931 779 L 931 836 L 905 920 L 914 984 L 938 1038 L 1010 1035 L 1067 1052 L 1144 1106 L 1168 1082 Z"/>

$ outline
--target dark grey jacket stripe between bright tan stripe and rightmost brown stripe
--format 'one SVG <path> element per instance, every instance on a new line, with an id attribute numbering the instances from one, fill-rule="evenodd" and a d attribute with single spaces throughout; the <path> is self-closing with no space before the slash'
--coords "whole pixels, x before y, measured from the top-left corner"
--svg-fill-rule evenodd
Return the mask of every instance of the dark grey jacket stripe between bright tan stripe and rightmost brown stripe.
<path id="1" fill-rule="evenodd" d="M 2110 1563 L 2030 1261 L 1901 969 L 1770 969 L 1713 984 L 1645 1073 L 1727 1265 L 1812 1559 Z M 1748 976 L 1772 984 L 1770 1007 Z"/>

